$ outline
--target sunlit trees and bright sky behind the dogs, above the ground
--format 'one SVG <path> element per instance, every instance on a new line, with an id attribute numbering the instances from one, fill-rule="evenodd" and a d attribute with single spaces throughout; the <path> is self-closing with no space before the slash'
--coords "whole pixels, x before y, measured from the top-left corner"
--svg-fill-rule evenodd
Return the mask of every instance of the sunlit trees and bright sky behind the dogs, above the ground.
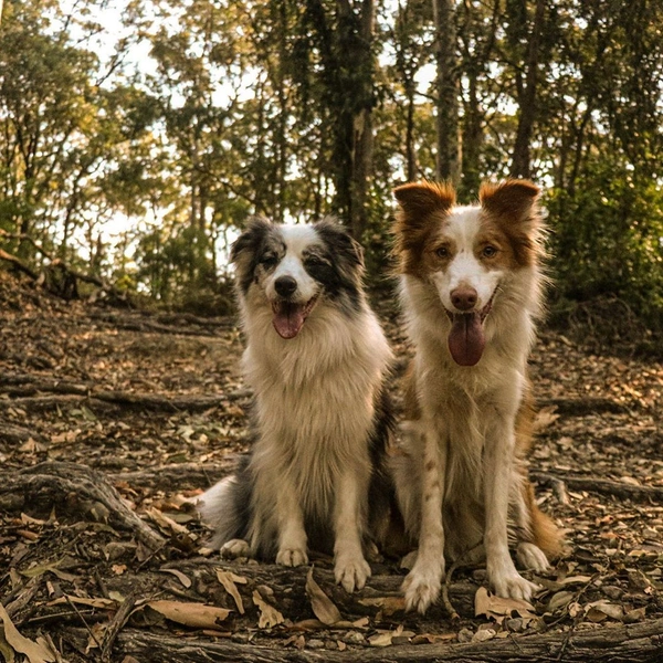
<path id="1" fill-rule="evenodd" d="M 338 214 L 380 285 L 396 185 L 470 201 L 530 177 L 552 320 L 642 340 L 663 324 L 662 27 L 661 0 L 6 0 L 3 257 L 69 295 L 71 272 L 219 314 L 251 214 Z"/>

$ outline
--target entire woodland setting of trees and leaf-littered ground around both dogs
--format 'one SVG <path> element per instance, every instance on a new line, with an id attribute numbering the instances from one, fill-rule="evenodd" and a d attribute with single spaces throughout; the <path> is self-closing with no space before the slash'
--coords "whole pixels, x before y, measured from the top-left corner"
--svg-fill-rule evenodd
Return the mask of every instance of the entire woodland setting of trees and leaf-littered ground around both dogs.
<path id="1" fill-rule="evenodd" d="M 0 659 L 663 661 L 663 0 L 0 8 Z M 400 420 L 391 190 L 509 175 L 556 283 L 528 470 L 566 541 L 533 603 L 484 565 L 422 617 L 388 555 L 351 596 L 326 556 L 221 560 L 192 503 L 251 444 L 245 220 L 361 240 Z"/>

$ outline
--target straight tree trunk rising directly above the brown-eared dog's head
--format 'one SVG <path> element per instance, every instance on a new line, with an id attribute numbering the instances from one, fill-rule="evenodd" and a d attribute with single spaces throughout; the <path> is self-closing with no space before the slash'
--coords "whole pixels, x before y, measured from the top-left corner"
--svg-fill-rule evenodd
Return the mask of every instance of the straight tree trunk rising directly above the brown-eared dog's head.
<path id="1" fill-rule="evenodd" d="M 438 64 L 438 179 L 459 182 L 461 156 L 459 144 L 459 82 L 456 30 L 453 2 L 433 0 L 435 59 Z"/>

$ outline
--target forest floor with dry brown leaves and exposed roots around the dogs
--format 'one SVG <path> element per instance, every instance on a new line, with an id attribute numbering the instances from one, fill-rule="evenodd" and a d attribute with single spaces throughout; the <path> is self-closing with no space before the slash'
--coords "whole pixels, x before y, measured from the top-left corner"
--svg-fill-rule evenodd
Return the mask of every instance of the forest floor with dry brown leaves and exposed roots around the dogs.
<path id="1" fill-rule="evenodd" d="M 402 369 L 396 307 L 380 312 Z M 403 612 L 397 561 L 373 560 L 349 596 L 328 558 L 284 569 L 204 548 L 191 499 L 246 449 L 233 319 L 65 303 L 0 272 L 0 324 L 7 661 L 663 660 L 660 360 L 541 332 L 530 477 L 566 552 L 532 606 L 454 569 L 452 619 Z"/>

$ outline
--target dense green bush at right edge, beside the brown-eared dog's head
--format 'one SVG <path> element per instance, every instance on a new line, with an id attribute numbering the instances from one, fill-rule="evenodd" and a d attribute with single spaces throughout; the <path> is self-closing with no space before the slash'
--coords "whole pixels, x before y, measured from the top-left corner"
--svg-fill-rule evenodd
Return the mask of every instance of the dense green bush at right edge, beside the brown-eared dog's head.
<path id="1" fill-rule="evenodd" d="M 623 162 L 597 158 L 573 197 L 554 191 L 551 250 L 558 296 L 612 296 L 663 327 L 663 189 Z"/>

